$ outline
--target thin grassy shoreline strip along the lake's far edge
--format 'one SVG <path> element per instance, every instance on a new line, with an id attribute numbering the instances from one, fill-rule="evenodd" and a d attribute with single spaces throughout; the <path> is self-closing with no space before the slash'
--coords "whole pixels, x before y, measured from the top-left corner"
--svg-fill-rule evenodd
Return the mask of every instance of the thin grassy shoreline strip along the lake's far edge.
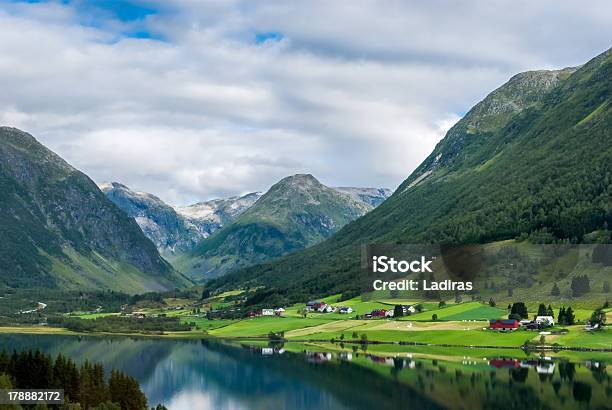
<path id="1" fill-rule="evenodd" d="M 231 341 L 270 341 L 264 336 L 226 336 L 219 337 L 203 332 L 168 332 L 162 334 L 153 333 L 110 333 L 110 332 L 75 332 L 66 328 L 47 327 L 47 326 L 0 326 L 0 335 L 3 334 L 32 334 L 50 336 L 120 336 L 120 337 L 144 337 L 158 339 L 214 339 Z M 396 345 L 396 346 L 417 346 L 417 347 L 448 347 L 463 349 L 515 349 L 521 351 L 572 351 L 572 352 L 597 352 L 612 353 L 612 348 L 590 348 L 580 346 L 555 346 L 555 345 L 520 345 L 520 346 L 496 346 L 496 345 L 461 345 L 448 343 L 422 343 L 422 342 L 403 342 L 403 341 L 378 341 L 378 340 L 342 340 L 337 339 L 281 339 L 279 343 L 328 343 L 328 344 L 351 344 L 351 345 Z"/>

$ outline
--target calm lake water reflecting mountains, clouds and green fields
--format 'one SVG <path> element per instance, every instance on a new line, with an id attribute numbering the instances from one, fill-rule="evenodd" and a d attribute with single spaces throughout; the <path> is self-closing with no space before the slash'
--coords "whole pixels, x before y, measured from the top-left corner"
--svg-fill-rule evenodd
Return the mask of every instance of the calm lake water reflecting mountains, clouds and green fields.
<path id="1" fill-rule="evenodd" d="M 520 351 L 383 354 L 398 347 L 327 352 L 293 344 L 0 336 L 0 349 L 37 348 L 121 369 L 140 381 L 150 404 L 179 410 L 612 408 L 612 355 L 605 354 L 568 360 Z"/>

